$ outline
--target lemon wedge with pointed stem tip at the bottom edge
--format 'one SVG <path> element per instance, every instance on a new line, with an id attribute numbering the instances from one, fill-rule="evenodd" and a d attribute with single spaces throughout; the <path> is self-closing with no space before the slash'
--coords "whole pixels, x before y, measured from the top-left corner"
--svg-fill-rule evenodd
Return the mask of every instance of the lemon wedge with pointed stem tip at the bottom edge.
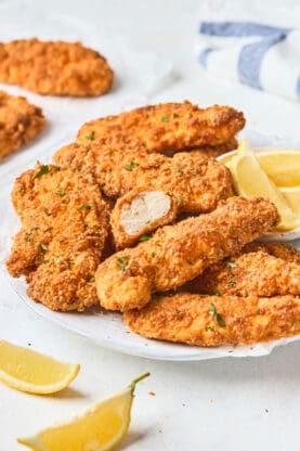
<path id="1" fill-rule="evenodd" d="M 34 451 L 113 450 L 128 431 L 135 385 L 148 375 L 142 374 L 119 394 L 94 404 L 70 423 L 17 441 Z"/>

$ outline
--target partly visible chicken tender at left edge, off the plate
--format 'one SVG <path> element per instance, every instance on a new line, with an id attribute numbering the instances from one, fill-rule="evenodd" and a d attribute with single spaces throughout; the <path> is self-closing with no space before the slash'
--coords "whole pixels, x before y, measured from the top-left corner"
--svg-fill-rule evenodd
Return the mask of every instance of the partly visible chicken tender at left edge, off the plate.
<path id="1" fill-rule="evenodd" d="M 25 98 L 0 91 L 0 160 L 30 142 L 43 126 L 41 108 Z"/>

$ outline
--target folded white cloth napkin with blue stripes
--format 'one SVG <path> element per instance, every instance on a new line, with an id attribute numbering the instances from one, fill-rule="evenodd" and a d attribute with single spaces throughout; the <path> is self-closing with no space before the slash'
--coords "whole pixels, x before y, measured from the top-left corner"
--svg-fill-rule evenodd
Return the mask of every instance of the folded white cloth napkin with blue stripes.
<path id="1" fill-rule="evenodd" d="M 274 1 L 253 3 L 203 2 L 199 62 L 220 78 L 299 101 L 299 4 L 284 9 L 277 2 L 276 9 Z"/>

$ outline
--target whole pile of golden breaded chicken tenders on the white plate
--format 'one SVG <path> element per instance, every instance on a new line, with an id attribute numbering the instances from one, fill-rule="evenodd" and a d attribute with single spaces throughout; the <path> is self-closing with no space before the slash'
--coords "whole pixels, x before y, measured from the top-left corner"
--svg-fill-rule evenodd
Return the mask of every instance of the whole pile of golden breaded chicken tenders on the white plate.
<path id="1" fill-rule="evenodd" d="M 15 181 L 10 273 L 52 310 L 100 305 L 149 338 L 221 346 L 299 334 L 300 253 L 253 243 L 277 210 L 234 195 L 216 159 L 244 125 L 230 106 L 187 101 L 84 124 L 53 165 Z"/>

